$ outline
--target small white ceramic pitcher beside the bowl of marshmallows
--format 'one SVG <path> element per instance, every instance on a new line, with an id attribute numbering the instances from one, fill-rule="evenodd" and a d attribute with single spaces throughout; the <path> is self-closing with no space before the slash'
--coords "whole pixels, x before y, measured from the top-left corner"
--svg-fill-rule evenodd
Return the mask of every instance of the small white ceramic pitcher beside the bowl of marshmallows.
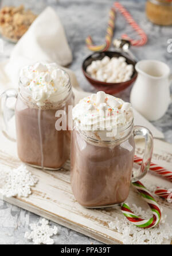
<path id="1" fill-rule="evenodd" d="M 140 61 L 136 64 L 138 78 L 131 91 L 131 104 L 149 121 L 165 114 L 171 103 L 170 68 L 160 61 Z"/>

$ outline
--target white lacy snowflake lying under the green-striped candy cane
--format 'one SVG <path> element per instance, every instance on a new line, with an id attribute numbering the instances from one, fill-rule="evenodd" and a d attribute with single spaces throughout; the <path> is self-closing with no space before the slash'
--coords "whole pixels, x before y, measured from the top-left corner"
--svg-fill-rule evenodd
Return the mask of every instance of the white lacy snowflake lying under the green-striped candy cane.
<path id="1" fill-rule="evenodd" d="M 132 209 L 143 218 L 151 216 L 150 210 L 146 212 L 136 205 L 132 205 Z M 122 221 L 116 217 L 115 221 L 109 223 L 109 227 L 123 234 L 124 244 L 163 244 L 172 238 L 172 226 L 165 223 L 165 219 L 166 216 L 163 216 L 161 223 L 155 228 L 142 229 L 135 227 L 127 219 Z"/>

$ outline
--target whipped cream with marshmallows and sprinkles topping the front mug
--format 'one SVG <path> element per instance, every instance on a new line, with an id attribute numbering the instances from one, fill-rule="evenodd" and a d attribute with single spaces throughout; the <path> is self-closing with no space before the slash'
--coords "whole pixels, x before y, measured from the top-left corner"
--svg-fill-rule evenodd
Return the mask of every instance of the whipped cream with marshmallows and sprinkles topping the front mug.
<path id="1" fill-rule="evenodd" d="M 132 119 L 130 103 L 104 92 L 85 97 L 73 108 L 75 126 L 87 131 L 125 129 Z"/>

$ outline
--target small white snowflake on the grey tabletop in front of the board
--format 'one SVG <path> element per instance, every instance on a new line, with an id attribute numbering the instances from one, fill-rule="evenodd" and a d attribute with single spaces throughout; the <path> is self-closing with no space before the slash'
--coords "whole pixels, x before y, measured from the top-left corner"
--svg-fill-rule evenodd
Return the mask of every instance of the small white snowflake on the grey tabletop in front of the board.
<path id="1" fill-rule="evenodd" d="M 51 228 L 49 226 L 49 221 L 42 219 L 38 224 L 30 224 L 30 233 L 25 233 L 25 238 L 28 240 L 33 240 L 34 244 L 54 244 L 54 240 L 51 239 L 53 235 L 57 235 L 57 227 Z"/>

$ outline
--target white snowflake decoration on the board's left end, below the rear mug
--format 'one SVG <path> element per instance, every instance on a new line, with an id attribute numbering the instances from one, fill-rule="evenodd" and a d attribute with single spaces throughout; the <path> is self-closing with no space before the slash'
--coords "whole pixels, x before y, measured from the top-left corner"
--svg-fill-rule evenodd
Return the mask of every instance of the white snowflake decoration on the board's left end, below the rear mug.
<path id="1" fill-rule="evenodd" d="M 30 187 L 35 186 L 38 179 L 22 164 L 17 169 L 3 170 L 0 172 L 1 194 L 5 197 L 28 197 L 32 194 Z"/>

